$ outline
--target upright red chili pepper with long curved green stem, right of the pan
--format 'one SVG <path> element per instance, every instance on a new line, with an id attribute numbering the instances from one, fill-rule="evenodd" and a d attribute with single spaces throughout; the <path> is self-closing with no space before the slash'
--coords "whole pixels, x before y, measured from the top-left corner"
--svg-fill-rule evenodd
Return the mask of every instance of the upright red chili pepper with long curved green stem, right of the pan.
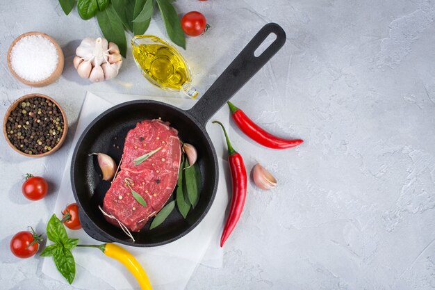
<path id="1" fill-rule="evenodd" d="M 231 171 L 231 179 L 233 182 L 233 195 L 231 197 L 229 215 L 227 222 L 225 223 L 222 236 L 220 237 L 220 247 L 222 248 L 231 232 L 233 232 L 234 227 L 236 227 L 238 219 L 242 215 L 246 200 L 247 174 L 245 163 L 243 163 L 243 158 L 238 152 L 236 152 L 236 150 L 233 149 L 233 146 L 231 146 L 224 125 L 218 121 L 213 121 L 213 123 L 220 124 L 220 127 L 222 127 L 224 130 L 225 139 L 227 140 L 228 146 L 229 169 Z"/>

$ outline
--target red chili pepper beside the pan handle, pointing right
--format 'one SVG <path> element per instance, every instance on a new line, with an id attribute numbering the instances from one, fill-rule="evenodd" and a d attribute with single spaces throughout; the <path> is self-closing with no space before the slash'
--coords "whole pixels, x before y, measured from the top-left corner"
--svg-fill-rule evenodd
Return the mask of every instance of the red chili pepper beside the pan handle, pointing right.
<path id="1" fill-rule="evenodd" d="M 255 124 L 240 108 L 234 106 L 231 102 L 227 102 L 227 104 L 234 122 L 243 133 L 256 143 L 273 149 L 286 149 L 304 142 L 302 139 L 284 139 L 274 136 Z"/>

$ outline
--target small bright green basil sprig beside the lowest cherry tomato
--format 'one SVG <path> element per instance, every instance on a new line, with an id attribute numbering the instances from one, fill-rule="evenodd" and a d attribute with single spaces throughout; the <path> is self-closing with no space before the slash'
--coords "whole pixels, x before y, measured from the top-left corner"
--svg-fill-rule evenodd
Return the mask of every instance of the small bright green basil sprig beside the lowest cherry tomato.
<path id="1" fill-rule="evenodd" d="M 76 263 L 71 250 L 76 247 L 79 239 L 69 239 L 67 231 L 60 220 L 54 214 L 47 223 L 47 237 L 53 241 L 53 245 L 47 246 L 42 253 L 42 257 L 53 257 L 54 264 L 65 279 L 72 283 L 76 276 Z"/>

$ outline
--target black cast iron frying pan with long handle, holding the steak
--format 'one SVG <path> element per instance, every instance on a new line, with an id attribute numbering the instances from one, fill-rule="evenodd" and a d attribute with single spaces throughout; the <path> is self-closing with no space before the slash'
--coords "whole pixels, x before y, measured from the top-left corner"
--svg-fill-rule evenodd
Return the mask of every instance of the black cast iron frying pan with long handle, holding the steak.
<path id="1" fill-rule="evenodd" d="M 254 56 L 254 51 L 271 33 L 277 38 L 260 56 Z M 93 120 L 75 147 L 71 167 L 72 189 L 85 232 L 103 242 L 151 247 L 175 241 L 198 225 L 213 203 L 218 181 L 217 157 L 206 132 L 206 122 L 281 49 L 284 42 L 286 33 L 281 26 L 274 23 L 263 26 L 188 111 L 162 102 L 138 100 L 114 106 Z M 202 176 L 201 195 L 197 207 L 190 210 L 186 219 L 174 210 L 155 229 L 149 230 L 149 222 L 140 232 L 133 233 L 136 240 L 133 243 L 120 228 L 110 225 L 99 211 L 98 206 L 103 204 L 110 182 L 101 180 L 97 162 L 88 154 L 104 152 L 119 163 L 127 132 L 136 127 L 137 122 L 156 118 L 170 122 L 179 131 L 181 140 L 197 148 L 197 163 Z"/>

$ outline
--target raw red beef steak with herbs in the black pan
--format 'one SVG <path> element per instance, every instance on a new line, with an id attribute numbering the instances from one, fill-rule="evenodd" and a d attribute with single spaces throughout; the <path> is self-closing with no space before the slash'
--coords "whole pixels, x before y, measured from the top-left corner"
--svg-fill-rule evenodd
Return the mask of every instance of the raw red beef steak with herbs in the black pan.
<path id="1" fill-rule="evenodd" d="M 161 147 L 135 166 L 134 159 Z M 177 184 L 181 161 L 178 131 L 161 120 L 136 124 L 125 138 L 120 172 L 104 197 L 103 209 L 133 232 L 138 232 L 165 205 Z M 129 182 L 130 187 L 126 184 Z M 143 207 L 131 194 L 139 193 L 147 202 Z M 113 218 L 108 222 L 118 225 Z"/>

